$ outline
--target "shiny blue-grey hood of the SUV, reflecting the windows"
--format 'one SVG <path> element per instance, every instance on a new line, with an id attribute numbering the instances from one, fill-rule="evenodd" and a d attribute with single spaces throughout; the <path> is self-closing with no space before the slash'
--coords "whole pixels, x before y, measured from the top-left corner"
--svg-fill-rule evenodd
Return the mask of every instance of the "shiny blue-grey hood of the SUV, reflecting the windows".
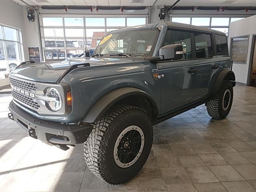
<path id="1" fill-rule="evenodd" d="M 123 58 L 123 57 L 99 57 L 99 58 L 78 58 L 72 60 L 64 60 L 62 62 L 47 62 L 37 64 L 23 64 L 18 66 L 11 72 L 11 76 L 20 77 L 27 80 L 38 82 L 52 82 L 55 83 L 65 74 L 70 67 L 75 64 L 89 63 L 90 66 L 106 66 L 109 64 L 120 64 L 126 62 L 142 61 L 144 57 L 138 58 Z"/>

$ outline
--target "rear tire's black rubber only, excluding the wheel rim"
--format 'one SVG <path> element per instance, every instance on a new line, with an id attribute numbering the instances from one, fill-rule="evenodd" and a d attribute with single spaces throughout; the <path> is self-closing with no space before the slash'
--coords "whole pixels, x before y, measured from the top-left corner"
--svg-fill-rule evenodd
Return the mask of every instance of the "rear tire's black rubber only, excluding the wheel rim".
<path id="1" fill-rule="evenodd" d="M 230 92 L 230 103 L 226 110 L 224 110 L 222 103 L 226 90 Z M 230 112 L 233 101 L 233 86 L 228 80 L 224 80 L 218 90 L 218 93 L 206 103 L 207 112 L 212 118 L 224 119 Z"/>

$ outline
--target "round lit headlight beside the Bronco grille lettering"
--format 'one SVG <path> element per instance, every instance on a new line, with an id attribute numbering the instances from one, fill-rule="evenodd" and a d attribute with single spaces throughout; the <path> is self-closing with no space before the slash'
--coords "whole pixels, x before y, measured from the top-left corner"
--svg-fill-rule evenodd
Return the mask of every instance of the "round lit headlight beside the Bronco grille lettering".
<path id="1" fill-rule="evenodd" d="M 49 100 L 46 100 L 46 106 L 54 112 L 60 110 L 62 106 L 62 98 L 58 90 L 50 87 L 46 90 L 45 95 L 49 97 Z"/>

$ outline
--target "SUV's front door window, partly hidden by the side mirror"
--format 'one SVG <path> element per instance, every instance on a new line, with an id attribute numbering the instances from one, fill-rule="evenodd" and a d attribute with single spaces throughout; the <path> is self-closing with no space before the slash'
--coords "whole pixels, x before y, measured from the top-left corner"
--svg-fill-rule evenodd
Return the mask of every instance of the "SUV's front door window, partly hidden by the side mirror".
<path id="1" fill-rule="evenodd" d="M 164 39 L 164 45 L 182 44 L 182 59 L 191 59 L 191 33 L 186 31 L 168 30 Z"/>

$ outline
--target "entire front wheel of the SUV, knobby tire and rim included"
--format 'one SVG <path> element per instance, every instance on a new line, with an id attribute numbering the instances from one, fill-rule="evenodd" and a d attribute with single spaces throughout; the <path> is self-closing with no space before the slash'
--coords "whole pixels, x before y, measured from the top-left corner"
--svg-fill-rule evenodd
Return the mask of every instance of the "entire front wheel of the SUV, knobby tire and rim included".
<path id="1" fill-rule="evenodd" d="M 94 124 L 84 143 L 88 168 L 105 182 L 124 183 L 145 164 L 151 150 L 150 118 L 134 106 L 114 107 Z"/>

